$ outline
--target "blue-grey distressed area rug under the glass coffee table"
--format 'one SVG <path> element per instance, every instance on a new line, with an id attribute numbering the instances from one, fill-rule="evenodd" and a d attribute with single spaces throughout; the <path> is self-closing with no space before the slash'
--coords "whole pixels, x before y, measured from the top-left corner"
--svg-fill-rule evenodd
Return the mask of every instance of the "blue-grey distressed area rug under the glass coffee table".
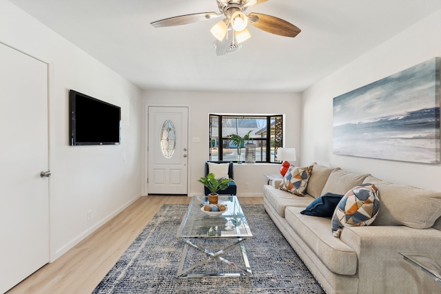
<path id="1" fill-rule="evenodd" d="M 176 232 L 187 205 L 164 204 L 92 293 L 325 293 L 263 205 L 242 207 L 253 233 L 245 242 L 252 277 L 176 277 L 184 246 Z"/>

